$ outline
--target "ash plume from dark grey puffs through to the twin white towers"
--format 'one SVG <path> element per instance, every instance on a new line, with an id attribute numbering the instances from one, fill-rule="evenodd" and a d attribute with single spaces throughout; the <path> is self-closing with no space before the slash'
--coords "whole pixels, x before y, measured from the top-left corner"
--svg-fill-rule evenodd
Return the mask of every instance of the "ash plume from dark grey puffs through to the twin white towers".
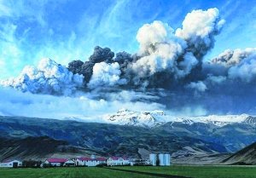
<path id="1" fill-rule="evenodd" d="M 214 37 L 223 24 L 218 9 L 192 11 L 185 17 L 183 27 L 176 32 L 168 24 L 154 21 L 138 30 L 140 49 L 136 55 L 123 51 L 113 58 L 110 49 L 97 46 L 88 61 L 73 60 L 68 69 L 74 74 L 82 74 L 85 86 L 90 89 L 96 88 L 96 83 L 99 87 L 115 85 L 125 88 L 169 88 L 173 83 L 186 85 L 186 77 L 195 70 L 201 70 L 202 57 L 212 49 Z M 118 78 L 117 81 L 110 76 Z M 166 83 L 167 78 L 170 81 Z M 197 82 L 196 78 L 192 82 Z"/>

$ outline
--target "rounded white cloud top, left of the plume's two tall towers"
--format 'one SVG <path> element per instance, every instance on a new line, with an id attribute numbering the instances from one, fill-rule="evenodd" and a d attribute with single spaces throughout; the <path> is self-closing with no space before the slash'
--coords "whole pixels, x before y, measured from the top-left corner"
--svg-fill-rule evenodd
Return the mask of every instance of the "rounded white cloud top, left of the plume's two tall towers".
<path id="1" fill-rule="evenodd" d="M 143 25 L 137 32 L 142 58 L 131 68 L 138 77 L 148 77 L 155 72 L 175 70 L 177 58 L 183 54 L 186 43 L 174 36 L 173 30 L 161 21 Z"/>

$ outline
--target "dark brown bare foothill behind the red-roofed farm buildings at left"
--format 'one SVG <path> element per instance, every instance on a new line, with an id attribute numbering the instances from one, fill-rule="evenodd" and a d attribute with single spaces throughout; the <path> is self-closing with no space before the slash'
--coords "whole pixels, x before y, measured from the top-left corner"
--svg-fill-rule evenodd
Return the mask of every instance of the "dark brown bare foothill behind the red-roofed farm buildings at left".
<path id="1" fill-rule="evenodd" d="M 83 153 L 84 150 L 68 145 L 67 141 L 56 141 L 47 136 L 26 139 L 0 138 L 0 161 L 9 158 L 42 160 L 54 154 L 67 156 Z"/>

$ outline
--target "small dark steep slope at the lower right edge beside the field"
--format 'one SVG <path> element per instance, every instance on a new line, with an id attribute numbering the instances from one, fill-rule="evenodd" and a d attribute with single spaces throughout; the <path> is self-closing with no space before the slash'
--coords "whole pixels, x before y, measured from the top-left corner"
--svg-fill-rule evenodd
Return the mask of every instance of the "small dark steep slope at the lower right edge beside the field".
<path id="1" fill-rule="evenodd" d="M 224 159 L 224 164 L 256 164 L 256 142 Z"/>

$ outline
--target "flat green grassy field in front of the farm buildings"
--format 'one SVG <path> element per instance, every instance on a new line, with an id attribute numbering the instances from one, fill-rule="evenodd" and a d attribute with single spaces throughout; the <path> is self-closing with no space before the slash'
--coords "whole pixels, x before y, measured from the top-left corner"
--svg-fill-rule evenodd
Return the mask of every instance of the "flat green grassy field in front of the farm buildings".
<path id="1" fill-rule="evenodd" d="M 119 170 L 117 170 L 119 169 Z M 127 172 L 131 171 L 131 172 Z M 134 171 L 134 172 L 133 172 Z M 152 173 L 152 175 L 147 175 Z M 171 166 L 171 167 L 113 167 L 0 169 L 0 178 L 157 178 L 180 175 L 195 178 L 255 178 L 256 167 L 230 166 Z"/>

